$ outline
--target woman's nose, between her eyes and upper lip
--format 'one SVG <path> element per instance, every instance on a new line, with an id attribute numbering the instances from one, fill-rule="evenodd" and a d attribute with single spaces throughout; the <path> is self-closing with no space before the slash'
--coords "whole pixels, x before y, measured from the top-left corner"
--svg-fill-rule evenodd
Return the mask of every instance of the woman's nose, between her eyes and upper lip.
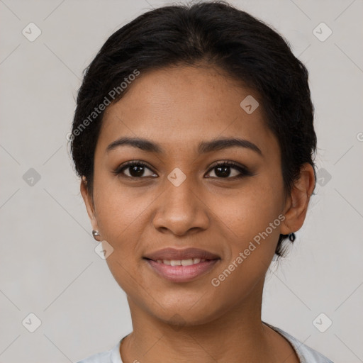
<path id="1" fill-rule="evenodd" d="M 195 181 L 187 177 L 179 186 L 168 180 L 166 183 L 166 189 L 157 199 L 157 210 L 152 220 L 155 228 L 177 236 L 206 230 L 210 211 Z"/>

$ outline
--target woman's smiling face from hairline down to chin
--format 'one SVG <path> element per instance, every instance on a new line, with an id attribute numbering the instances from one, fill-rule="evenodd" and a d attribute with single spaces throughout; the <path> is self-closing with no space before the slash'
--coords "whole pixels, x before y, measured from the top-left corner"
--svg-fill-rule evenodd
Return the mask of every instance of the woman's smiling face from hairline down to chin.
<path id="1" fill-rule="evenodd" d="M 240 106 L 247 96 L 259 102 L 252 113 Z M 305 216 L 284 199 L 279 145 L 259 96 L 214 68 L 141 73 L 108 106 L 93 195 L 83 183 L 81 190 L 92 227 L 113 247 L 106 262 L 128 301 L 165 322 L 179 314 L 196 325 L 255 308 L 279 234 Z M 166 247 L 213 258 L 184 255 L 183 264 L 194 264 L 172 266 L 160 259 L 173 255 L 155 255 Z"/>

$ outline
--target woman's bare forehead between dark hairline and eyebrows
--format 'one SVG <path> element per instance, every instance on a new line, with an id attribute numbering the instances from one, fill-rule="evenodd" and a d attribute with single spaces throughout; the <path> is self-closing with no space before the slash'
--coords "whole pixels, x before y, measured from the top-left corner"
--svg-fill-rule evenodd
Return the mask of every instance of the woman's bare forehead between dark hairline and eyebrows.
<path id="1" fill-rule="evenodd" d="M 101 150 L 121 136 L 148 138 L 167 150 L 231 136 L 250 140 L 266 153 L 278 147 L 264 121 L 259 95 L 220 69 L 170 67 L 141 72 L 129 87 L 104 113 L 97 145 Z M 259 106 L 247 113 L 240 104 L 251 96 Z"/>

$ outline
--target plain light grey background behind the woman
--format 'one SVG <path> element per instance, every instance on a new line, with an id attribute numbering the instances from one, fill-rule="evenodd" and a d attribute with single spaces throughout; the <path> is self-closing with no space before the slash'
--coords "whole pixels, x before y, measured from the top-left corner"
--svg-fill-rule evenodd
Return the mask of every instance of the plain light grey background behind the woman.
<path id="1" fill-rule="evenodd" d="M 363 1 L 230 3 L 289 40 L 316 110 L 317 195 L 289 257 L 272 264 L 262 318 L 335 362 L 363 362 Z M 113 31 L 162 4 L 0 0 L 2 363 L 77 362 L 131 331 L 125 293 L 94 252 L 66 135 L 84 68 Z M 33 42 L 30 22 L 42 32 Z"/>

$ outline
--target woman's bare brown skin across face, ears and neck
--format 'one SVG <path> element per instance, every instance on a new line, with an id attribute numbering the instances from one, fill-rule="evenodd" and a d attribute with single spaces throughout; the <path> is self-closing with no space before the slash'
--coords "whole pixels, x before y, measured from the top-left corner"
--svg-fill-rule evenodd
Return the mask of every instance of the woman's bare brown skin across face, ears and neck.
<path id="1" fill-rule="evenodd" d="M 306 218 L 313 168 L 303 165 L 285 198 L 279 145 L 264 123 L 262 101 L 221 70 L 152 70 L 129 87 L 105 111 L 93 194 L 86 180 L 81 181 L 92 228 L 113 247 L 106 262 L 128 296 L 133 333 L 122 342 L 123 362 L 299 362 L 289 342 L 262 323 L 262 290 L 279 234 L 296 232 Z M 240 107 L 247 95 L 259 101 L 251 114 Z M 106 152 L 123 136 L 146 138 L 165 152 L 128 145 Z M 262 156 L 245 147 L 197 152 L 201 141 L 233 137 L 254 143 Z M 113 173 L 130 160 L 150 169 L 133 178 L 130 168 Z M 211 166 L 224 160 L 245 165 L 254 174 L 234 179 L 240 172 L 230 167 L 230 175 L 220 177 Z M 179 186 L 167 179 L 174 168 L 186 175 Z M 213 286 L 211 279 L 281 214 L 285 220 L 225 281 Z M 220 261 L 194 281 L 173 283 L 143 259 L 164 247 L 199 247 L 219 255 Z"/>

